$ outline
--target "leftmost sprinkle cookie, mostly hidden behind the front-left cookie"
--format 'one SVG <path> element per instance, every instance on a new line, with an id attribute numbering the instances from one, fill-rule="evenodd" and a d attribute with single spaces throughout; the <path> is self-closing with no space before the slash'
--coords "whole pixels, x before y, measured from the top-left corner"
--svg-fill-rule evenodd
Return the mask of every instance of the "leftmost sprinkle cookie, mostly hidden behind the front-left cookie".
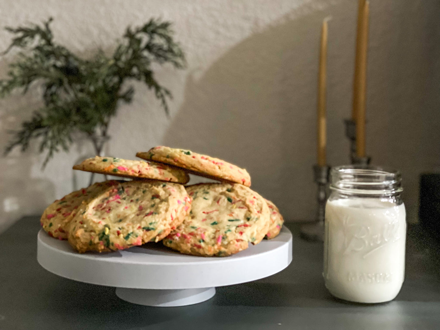
<path id="1" fill-rule="evenodd" d="M 67 239 L 67 225 L 76 215 L 82 202 L 87 202 L 108 187 L 116 186 L 121 182 L 123 181 L 110 180 L 94 183 L 88 188 L 73 191 L 63 198 L 57 199 L 44 210 L 40 219 L 41 226 L 49 236 Z"/>

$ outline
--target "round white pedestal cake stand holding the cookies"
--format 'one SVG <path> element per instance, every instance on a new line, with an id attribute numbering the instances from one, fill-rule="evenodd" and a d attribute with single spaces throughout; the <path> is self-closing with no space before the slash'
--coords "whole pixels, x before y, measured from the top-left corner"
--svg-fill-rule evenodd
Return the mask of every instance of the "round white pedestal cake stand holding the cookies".
<path id="1" fill-rule="evenodd" d="M 160 243 L 109 253 L 77 253 L 67 241 L 38 233 L 37 260 L 48 271 L 80 282 L 114 286 L 125 301 L 185 306 L 208 300 L 216 286 L 273 275 L 292 261 L 292 234 L 280 234 L 230 257 L 194 257 Z"/>

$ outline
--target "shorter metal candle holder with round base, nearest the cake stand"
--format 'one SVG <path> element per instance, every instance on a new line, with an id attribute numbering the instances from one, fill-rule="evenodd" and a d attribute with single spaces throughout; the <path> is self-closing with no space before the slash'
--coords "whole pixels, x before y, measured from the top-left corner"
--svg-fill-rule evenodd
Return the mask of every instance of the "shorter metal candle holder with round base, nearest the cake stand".
<path id="1" fill-rule="evenodd" d="M 324 214 L 327 200 L 327 183 L 330 176 L 330 166 L 314 165 L 314 179 L 318 185 L 318 193 L 316 195 L 318 201 L 318 212 L 316 221 L 312 224 L 304 224 L 301 227 L 301 237 L 310 241 L 324 241 Z"/>

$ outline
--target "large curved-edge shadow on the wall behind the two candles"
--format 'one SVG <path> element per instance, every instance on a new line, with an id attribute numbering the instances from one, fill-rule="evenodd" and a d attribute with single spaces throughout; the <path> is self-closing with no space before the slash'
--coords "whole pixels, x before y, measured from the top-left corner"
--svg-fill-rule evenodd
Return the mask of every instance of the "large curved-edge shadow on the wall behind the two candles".
<path id="1" fill-rule="evenodd" d="M 184 102 L 163 143 L 246 168 L 252 188 L 275 202 L 286 220 L 312 220 L 320 26 L 325 16 L 333 16 L 329 24 L 327 159 L 331 165 L 342 165 L 348 163 L 343 119 L 351 113 L 356 5 L 341 1 L 325 13 L 312 11 L 287 19 L 228 50 L 202 77 L 190 74 Z M 439 68 L 438 61 L 432 61 L 439 47 L 421 38 L 427 31 L 439 30 L 435 18 L 439 8 L 423 7 L 420 2 L 407 5 L 398 1 L 371 5 L 367 152 L 373 164 L 401 169 L 408 220 L 415 222 L 418 174 L 432 168 L 439 158 L 440 140 L 435 132 L 440 104 L 434 91 Z M 408 20 L 418 29 L 402 36 L 399 31 L 406 29 Z M 423 87 L 427 85 L 432 89 L 428 95 Z"/>

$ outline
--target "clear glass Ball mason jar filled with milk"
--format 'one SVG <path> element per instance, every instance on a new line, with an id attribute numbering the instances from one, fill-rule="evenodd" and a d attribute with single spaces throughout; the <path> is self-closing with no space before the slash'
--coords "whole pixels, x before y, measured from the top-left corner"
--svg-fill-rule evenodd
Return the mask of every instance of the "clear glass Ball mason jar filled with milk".
<path id="1" fill-rule="evenodd" d="M 335 297 L 359 303 L 394 299 L 405 272 L 406 212 L 397 171 L 340 166 L 330 172 L 324 280 Z"/>

